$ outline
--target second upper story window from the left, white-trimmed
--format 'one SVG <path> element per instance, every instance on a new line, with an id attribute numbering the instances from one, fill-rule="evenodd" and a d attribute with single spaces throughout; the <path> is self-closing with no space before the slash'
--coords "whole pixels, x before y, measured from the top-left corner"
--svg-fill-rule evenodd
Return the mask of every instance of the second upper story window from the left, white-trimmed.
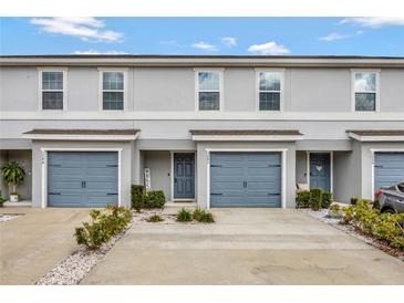
<path id="1" fill-rule="evenodd" d="M 102 108 L 104 111 L 123 111 L 125 103 L 125 73 L 102 72 Z"/>

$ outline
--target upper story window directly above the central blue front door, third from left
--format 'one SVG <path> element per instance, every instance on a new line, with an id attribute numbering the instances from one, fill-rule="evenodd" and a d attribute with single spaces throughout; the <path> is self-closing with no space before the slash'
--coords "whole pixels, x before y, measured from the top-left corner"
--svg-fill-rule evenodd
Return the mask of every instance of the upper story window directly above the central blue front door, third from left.
<path id="1" fill-rule="evenodd" d="M 222 71 L 196 71 L 196 75 L 198 111 L 221 111 Z"/>

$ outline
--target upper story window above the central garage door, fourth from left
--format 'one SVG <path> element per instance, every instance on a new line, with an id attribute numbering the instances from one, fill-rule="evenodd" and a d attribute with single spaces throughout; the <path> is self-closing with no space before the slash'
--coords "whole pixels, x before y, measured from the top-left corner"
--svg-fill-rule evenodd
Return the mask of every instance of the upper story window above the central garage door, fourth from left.
<path id="1" fill-rule="evenodd" d="M 284 71 L 257 70 L 258 109 L 281 111 Z"/>

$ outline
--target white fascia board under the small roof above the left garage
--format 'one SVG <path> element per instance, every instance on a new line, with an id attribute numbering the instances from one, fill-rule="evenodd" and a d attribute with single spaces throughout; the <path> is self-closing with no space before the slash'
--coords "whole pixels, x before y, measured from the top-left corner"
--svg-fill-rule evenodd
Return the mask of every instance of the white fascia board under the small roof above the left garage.
<path id="1" fill-rule="evenodd" d="M 34 140 L 135 140 L 136 135 L 46 135 L 46 134 L 23 134 L 24 139 Z"/>

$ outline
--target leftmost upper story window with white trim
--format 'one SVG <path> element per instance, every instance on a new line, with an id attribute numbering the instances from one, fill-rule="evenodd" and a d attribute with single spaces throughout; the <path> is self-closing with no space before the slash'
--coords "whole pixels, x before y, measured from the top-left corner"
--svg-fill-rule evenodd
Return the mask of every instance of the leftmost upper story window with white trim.
<path id="1" fill-rule="evenodd" d="M 40 70 L 40 108 L 65 109 L 65 71 Z"/>

